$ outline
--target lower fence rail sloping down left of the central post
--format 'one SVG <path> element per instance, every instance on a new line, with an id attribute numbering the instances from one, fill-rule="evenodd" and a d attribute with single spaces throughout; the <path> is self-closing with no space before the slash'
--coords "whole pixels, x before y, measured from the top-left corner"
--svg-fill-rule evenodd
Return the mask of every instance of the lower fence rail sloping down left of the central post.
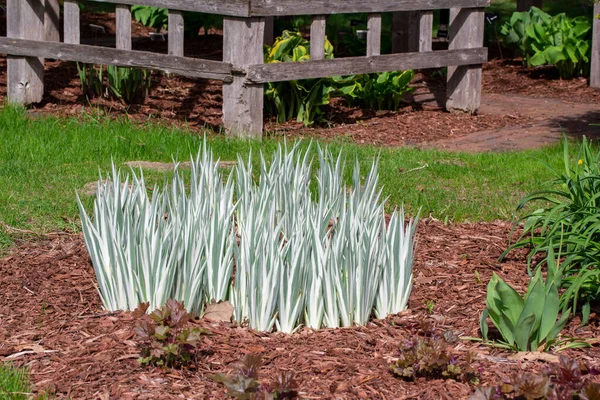
<path id="1" fill-rule="evenodd" d="M 22 0 L 12 0 L 22 1 Z M 148 68 L 196 78 L 218 79 L 231 82 L 231 64 L 137 50 L 120 50 L 109 47 L 66 43 L 45 43 L 34 40 L 0 37 L 0 53 L 15 56 L 54 58 L 88 64 L 118 65 L 121 67 Z"/>

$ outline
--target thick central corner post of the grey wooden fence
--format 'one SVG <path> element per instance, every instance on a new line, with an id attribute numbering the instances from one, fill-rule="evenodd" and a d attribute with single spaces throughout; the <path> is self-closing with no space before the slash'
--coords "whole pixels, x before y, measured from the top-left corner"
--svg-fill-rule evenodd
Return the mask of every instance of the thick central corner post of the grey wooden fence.
<path id="1" fill-rule="evenodd" d="M 263 84 L 246 84 L 243 70 L 263 63 L 264 36 L 264 18 L 223 20 L 223 61 L 239 71 L 233 82 L 223 83 L 223 126 L 229 135 L 262 136 Z"/>

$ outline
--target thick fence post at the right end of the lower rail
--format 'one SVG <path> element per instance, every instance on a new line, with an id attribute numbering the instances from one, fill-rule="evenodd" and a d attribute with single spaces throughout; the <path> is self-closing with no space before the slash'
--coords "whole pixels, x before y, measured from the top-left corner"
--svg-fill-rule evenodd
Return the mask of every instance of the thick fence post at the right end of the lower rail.
<path id="1" fill-rule="evenodd" d="M 483 47 L 484 11 L 479 8 L 451 8 L 448 48 Z M 481 64 L 448 67 L 446 109 L 476 113 L 481 104 Z"/>

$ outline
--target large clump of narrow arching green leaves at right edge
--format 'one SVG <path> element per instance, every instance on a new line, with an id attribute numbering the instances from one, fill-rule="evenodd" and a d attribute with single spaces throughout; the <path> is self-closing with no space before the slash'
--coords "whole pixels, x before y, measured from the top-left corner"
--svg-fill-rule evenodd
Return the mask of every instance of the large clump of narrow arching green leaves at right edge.
<path id="1" fill-rule="evenodd" d="M 582 305 L 583 323 L 590 314 L 591 302 L 600 297 L 600 152 L 593 150 L 584 137 L 577 161 L 569 159 L 569 144 L 564 139 L 564 169 L 553 171 L 552 187 L 525 197 L 518 210 L 542 201 L 521 221 L 523 234 L 501 256 L 529 247 L 528 269 L 536 255 L 542 255 L 537 269 L 556 268 L 555 255 L 563 257 L 560 265 L 566 291 L 561 296 L 563 312 Z M 554 266 L 554 267 L 553 267 Z"/>

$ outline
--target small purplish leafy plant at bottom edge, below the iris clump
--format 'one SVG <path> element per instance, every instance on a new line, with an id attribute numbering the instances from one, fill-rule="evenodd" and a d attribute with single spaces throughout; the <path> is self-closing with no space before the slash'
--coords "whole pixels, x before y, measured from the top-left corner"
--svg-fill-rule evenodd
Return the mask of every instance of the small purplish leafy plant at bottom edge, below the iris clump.
<path id="1" fill-rule="evenodd" d="M 282 372 L 273 382 L 261 384 L 258 371 L 262 365 L 259 354 L 247 354 L 233 375 L 216 374 L 215 382 L 227 387 L 229 395 L 239 400 L 299 399 L 299 384 L 293 372 Z"/>

